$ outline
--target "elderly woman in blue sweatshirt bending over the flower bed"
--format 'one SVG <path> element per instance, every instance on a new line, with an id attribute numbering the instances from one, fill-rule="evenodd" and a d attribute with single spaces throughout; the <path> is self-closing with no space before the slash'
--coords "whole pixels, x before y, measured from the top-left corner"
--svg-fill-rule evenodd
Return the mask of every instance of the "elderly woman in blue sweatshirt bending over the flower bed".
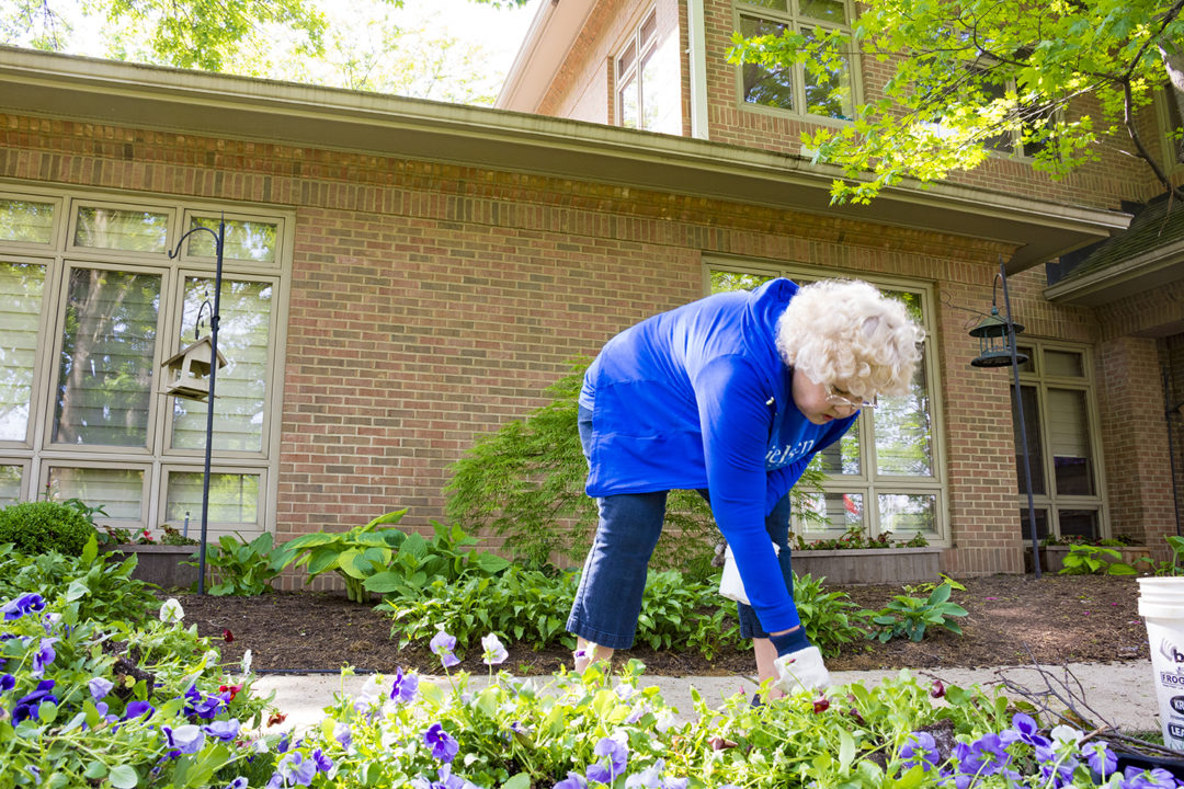
<path id="1" fill-rule="evenodd" d="M 579 397 L 600 519 L 567 620 L 575 670 L 632 646 L 667 492 L 694 489 L 747 591 L 740 630 L 758 675 L 783 691 L 825 686 L 793 603 L 787 494 L 861 407 L 907 390 L 924 336 L 903 304 L 867 283 L 773 279 L 610 339 Z"/>

